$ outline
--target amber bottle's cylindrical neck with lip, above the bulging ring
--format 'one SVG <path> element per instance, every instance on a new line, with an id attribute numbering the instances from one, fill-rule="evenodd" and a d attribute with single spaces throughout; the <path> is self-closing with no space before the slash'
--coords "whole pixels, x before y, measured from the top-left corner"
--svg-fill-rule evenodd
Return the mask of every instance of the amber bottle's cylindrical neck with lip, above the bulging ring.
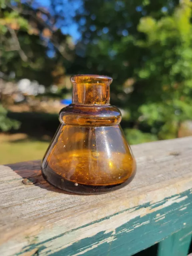
<path id="1" fill-rule="evenodd" d="M 109 86 L 112 82 L 112 78 L 96 75 L 77 75 L 71 78 L 71 82 L 73 83 L 73 104 L 109 104 Z"/>

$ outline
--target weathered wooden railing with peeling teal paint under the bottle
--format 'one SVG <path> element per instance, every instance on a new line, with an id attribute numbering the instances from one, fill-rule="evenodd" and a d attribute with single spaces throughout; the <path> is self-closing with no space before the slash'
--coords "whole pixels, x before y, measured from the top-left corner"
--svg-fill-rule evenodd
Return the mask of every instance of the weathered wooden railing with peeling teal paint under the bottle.
<path id="1" fill-rule="evenodd" d="M 0 256 L 187 255 L 192 236 L 192 137 L 132 146 L 125 188 L 75 195 L 49 185 L 40 161 L 0 166 Z"/>

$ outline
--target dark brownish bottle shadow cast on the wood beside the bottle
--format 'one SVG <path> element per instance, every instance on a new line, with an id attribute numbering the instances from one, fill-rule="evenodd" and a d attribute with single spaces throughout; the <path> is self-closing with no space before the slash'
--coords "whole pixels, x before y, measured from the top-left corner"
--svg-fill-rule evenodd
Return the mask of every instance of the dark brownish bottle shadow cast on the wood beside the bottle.
<path id="1" fill-rule="evenodd" d="M 28 161 L 28 162 L 20 162 L 16 164 L 5 164 L 4 166 L 10 167 L 16 174 L 21 176 L 23 179 L 31 179 L 34 181 L 34 185 L 38 186 L 40 188 L 62 193 L 62 194 L 68 194 L 68 195 L 76 195 L 76 196 L 87 196 L 85 194 L 75 194 L 72 192 L 68 192 L 65 190 L 62 190 L 60 188 L 56 188 L 53 185 L 49 184 L 42 176 L 41 172 L 41 161 Z M 26 184 L 26 185 L 25 185 Z M 25 182 L 23 183 L 24 186 L 31 186 L 29 183 Z"/>

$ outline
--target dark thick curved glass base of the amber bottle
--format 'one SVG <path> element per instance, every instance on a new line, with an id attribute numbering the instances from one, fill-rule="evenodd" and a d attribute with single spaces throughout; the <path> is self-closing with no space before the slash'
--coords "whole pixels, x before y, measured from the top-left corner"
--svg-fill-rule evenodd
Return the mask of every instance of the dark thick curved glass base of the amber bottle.
<path id="1" fill-rule="evenodd" d="M 113 185 L 86 185 L 86 184 L 80 184 L 76 182 L 72 182 L 69 180 L 66 180 L 56 172 L 54 172 L 50 167 L 46 167 L 46 174 L 44 173 L 44 170 L 41 168 L 42 176 L 46 181 L 48 181 L 51 185 L 60 188 L 62 190 L 66 190 L 68 192 L 76 193 L 76 194 L 104 194 L 108 193 L 114 190 L 118 190 L 127 184 L 129 184 L 132 179 L 135 176 L 134 172 L 132 176 L 130 176 L 125 182 L 122 182 L 120 184 L 113 184 Z"/>

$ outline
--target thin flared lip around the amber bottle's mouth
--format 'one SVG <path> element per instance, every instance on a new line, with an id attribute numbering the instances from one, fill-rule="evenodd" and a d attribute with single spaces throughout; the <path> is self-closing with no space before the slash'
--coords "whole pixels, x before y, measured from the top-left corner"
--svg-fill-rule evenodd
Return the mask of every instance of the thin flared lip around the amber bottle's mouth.
<path id="1" fill-rule="evenodd" d="M 112 83 L 112 78 L 110 76 L 100 76 L 100 75 L 75 75 L 71 76 L 70 81 L 75 84 L 106 84 L 110 85 Z"/>

